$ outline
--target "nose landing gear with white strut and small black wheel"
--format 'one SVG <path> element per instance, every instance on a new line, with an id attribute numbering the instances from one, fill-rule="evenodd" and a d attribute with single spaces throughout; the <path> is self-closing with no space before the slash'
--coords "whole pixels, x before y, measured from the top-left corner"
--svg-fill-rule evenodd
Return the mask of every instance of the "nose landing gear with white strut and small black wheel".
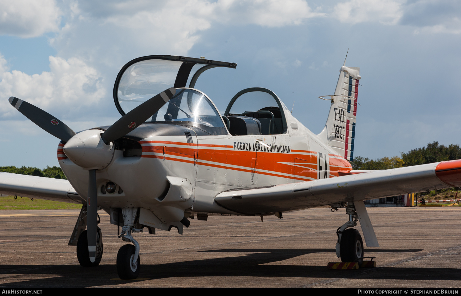
<path id="1" fill-rule="evenodd" d="M 117 254 L 117 273 L 121 279 L 135 279 L 139 275 L 139 243 L 132 237 L 132 232 L 142 232 L 135 228 L 135 219 L 138 209 L 136 207 L 122 208 L 124 225 L 121 237 L 125 242 L 134 244 L 123 245 Z"/>

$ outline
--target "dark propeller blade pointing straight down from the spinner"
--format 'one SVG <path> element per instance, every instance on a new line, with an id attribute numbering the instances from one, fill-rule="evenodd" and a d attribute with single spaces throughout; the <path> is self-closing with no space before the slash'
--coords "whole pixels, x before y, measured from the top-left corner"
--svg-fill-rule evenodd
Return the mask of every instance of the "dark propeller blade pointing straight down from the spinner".
<path id="1" fill-rule="evenodd" d="M 89 260 L 96 260 L 96 241 L 98 233 L 98 195 L 96 189 L 96 170 L 88 170 L 87 237 Z"/>

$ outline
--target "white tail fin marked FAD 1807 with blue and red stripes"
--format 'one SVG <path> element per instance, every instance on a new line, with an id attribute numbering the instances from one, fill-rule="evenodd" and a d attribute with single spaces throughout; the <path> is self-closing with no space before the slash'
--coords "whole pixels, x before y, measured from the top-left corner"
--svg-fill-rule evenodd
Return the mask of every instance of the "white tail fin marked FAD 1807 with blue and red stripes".
<path id="1" fill-rule="evenodd" d="M 328 95 L 331 97 L 330 113 L 324 129 L 317 135 L 339 155 L 350 161 L 354 158 L 357 93 L 361 78 L 359 72 L 360 68 L 357 67 L 341 67 L 335 93 Z"/>

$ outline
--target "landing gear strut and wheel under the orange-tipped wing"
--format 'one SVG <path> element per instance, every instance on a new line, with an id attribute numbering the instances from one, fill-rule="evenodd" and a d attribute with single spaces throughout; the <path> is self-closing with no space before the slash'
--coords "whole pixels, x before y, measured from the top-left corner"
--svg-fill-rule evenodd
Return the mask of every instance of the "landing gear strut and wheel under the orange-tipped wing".
<path id="1" fill-rule="evenodd" d="M 355 211 L 354 204 L 345 207 L 349 215 L 349 221 L 339 227 L 336 231 L 338 241 L 336 243 L 336 256 L 341 258 L 341 262 L 358 262 L 361 266 L 363 262 L 363 241 L 362 237 L 354 228 L 357 226 L 358 215 Z M 337 209 L 337 208 L 336 208 Z"/>

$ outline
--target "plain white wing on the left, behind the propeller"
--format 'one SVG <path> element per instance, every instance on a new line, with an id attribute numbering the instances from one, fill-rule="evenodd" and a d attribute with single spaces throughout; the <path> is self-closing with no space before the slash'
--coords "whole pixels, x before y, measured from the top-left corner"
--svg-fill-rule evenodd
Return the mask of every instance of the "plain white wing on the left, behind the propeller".
<path id="1" fill-rule="evenodd" d="M 69 181 L 0 172 L 0 193 L 81 204 Z"/>

